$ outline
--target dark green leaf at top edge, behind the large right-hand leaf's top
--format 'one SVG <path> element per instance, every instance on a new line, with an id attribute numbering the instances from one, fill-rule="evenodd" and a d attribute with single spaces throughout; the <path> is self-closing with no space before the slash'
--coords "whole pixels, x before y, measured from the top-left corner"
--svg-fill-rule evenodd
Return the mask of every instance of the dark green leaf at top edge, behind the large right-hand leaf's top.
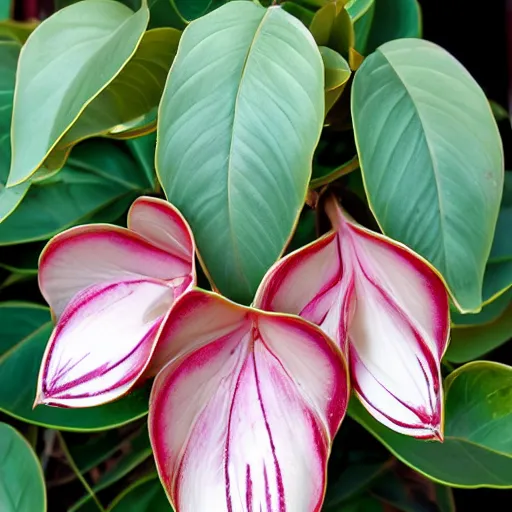
<path id="1" fill-rule="evenodd" d="M 421 37 L 421 10 L 417 0 L 374 0 L 374 6 L 365 55 L 394 39 Z"/>

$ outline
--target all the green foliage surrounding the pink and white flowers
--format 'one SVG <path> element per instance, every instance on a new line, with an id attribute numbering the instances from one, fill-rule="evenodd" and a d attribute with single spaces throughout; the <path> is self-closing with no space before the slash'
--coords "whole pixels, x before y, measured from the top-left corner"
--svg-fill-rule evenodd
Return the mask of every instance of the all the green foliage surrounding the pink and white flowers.
<path id="1" fill-rule="evenodd" d="M 331 192 L 446 283 L 444 442 L 353 400 L 323 512 L 454 512 L 450 487 L 512 488 L 512 369 L 477 360 L 512 337 L 510 117 L 420 39 L 416 0 L 58 0 L 41 22 L 13 6 L 0 0 L 0 412 L 16 427 L 0 423 L 2 512 L 45 512 L 45 478 L 50 497 L 81 482 L 70 512 L 172 512 L 151 380 L 99 407 L 33 408 L 54 329 L 42 249 L 126 226 L 142 195 L 183 213 L 199 282 L 233 301 L 330 228 Z"/>

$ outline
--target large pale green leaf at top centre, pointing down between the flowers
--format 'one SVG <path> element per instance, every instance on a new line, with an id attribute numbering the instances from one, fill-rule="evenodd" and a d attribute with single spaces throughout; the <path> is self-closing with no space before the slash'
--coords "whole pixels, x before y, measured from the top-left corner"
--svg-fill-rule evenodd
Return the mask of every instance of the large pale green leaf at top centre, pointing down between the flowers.
<path id="1" fill-rule="evenodd" d="M 158 116 L 157 172 L 215 286 L 248 303 L 304 204 L 324 115 L 306 28 L 230 2 L 183 32 Z"/>

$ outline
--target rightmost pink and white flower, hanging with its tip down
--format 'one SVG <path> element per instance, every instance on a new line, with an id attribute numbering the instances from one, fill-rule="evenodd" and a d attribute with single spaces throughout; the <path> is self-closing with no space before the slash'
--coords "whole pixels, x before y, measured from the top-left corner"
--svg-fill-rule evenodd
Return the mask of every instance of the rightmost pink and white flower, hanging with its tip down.
<path id="1" fill-rule="evenodd" d="M 377 420 L 442 440 L 449 302 L 441 278 L 404 245 L 355 223 L 334 198 L 326 210 L 333 231 L 279 261 L 255 307 L 320 325 L 348 355 L 352 387 Z"/>

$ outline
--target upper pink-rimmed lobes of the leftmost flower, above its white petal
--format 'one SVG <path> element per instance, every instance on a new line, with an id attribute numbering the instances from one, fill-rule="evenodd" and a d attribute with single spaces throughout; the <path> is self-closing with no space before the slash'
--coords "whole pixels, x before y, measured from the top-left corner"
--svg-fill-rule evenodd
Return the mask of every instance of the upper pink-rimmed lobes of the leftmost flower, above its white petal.
<path id="1" fill-rule="evenodd" d="M 131 223 L 147 238 L 116 226 L 89 225 L 68 229 L 48 243 L 39 262 L 39 286 L 57 318 L 91 285 L 152 278 L 184 291 L 195 282 L 190 231 L 164 203 L 139 198 L 132 206 Z M 144 230 L 140 224 L 145 220 Z"/>

